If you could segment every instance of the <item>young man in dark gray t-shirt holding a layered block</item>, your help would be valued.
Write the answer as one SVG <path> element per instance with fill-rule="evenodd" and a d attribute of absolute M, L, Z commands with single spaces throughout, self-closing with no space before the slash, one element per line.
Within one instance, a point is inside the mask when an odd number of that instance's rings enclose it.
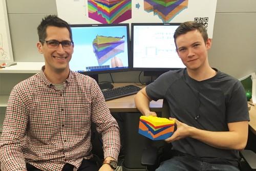
<path fill-rule="evenodd" d="M 241 82 L 211 68 L 211 39 L 200 23 L 182 23 L 174 34 L 185 69 L 169 71 L 135 97 L 143 115 L 156 115 L 149 102 L 166 99 L 177 130 L 165 141 L 173 155 L 162 170 L 239 170 L 239 151 L 247 142 L 248 107 Z M 170 119 L 172 119 L 170 118 Z"/>

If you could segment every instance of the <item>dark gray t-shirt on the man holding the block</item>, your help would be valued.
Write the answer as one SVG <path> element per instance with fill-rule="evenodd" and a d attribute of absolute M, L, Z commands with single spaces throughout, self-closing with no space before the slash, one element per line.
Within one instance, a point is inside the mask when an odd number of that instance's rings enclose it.
<path fill-rule="evenodd" d="M 214 77 L 203 81 L 190 78 L 186 69 L 169 71 L 149 84 L 146 93 L 153 100 L 166 99 L 170 116 L 187 125 L 207 131 L 228 131 L 227 123 L 249 120 L 247 100 L 239 80 L 216 71 Z M 215 148 L 193 138 L 172 144 L 174 149 L 192 156 L 239 158 L 236 150 Z"/>

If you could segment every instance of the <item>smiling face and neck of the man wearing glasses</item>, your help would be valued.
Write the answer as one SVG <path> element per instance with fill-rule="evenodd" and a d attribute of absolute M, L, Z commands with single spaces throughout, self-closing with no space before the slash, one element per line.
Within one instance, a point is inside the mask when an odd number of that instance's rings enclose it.
<path fill-rule="evenodd" d="M 65 27 L 48 26 L 46 29 L 46 41 L 71 41 L 69 30 Z M 69 61 L 71 60 L 74 47 L 71 49 L 63 49 L 60 44 L 58 48 L 48 48 L 46 42 L 37 42 L 39 53 L 44 54 L 45 57 L 45 70 L 48 72 L 69 72 Z"/>

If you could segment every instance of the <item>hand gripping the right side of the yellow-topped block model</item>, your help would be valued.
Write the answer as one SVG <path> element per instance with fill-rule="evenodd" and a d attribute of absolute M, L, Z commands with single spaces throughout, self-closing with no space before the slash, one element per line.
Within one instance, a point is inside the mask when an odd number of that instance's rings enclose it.
<path fill-rule="evenodd" d="M 182 123 L 180 121 L 178 121 L 177 119 L 174 118 L 169 118 L 170 120 L 175 120 L 176 123 L 176 131 L 174 132 L 174 134 L 172 136 L 170 136 L 169 138 L 165 139 L 165 141 L 167 143 L 173 142 L 175 140 L 179 140 L 182 138 L 186 138 L 189 136 L 189 130 L 191 129 L 191 126 L 188 126 L 185 123 Z"/>

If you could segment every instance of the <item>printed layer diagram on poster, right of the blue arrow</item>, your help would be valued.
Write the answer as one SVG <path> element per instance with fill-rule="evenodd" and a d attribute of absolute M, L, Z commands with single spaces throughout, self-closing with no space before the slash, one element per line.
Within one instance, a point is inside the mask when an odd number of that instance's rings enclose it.
<path fill-rule="evenodd" d="M 182 10 L 186 9 L 188 0 L 144 0 L 144 10 L 154 12 L 162 19 L 163 23 L 168 23 Z"/>

